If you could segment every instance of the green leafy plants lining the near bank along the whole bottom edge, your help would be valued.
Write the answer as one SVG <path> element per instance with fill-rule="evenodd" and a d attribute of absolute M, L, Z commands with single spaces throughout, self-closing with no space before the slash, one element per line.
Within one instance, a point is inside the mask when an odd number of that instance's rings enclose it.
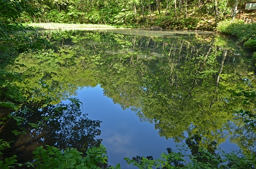
<path fill-rule="evenodd" d="M 76 149 L 67 149 L 61 151 L 58 148 L 40 146 L 33 151 L 33 163 L 27 162 L 21 165 L 33 167 L 35 169 L 100 169 L 102 164 L 107 164 L 108 156 L 106 148 L 103 145 L 100 147 L 92 147 L 88 149 L 87 156 L 83 157 L 82 153 Z M 168 150 L 168 149 L 167 149 Z M 182 151 L 185 150 L 182 148 Z M 180 150 L 181 151 L 181 150 Z M 137 156 L 132 160 L 124 158 L 128 164 L 132 164 L 139 169 L 254 169 L 256 167 L 256 158 L 242 156 L 241 151 L 225 153 L 220 151 L 220 156 L 213 155 L 209 150 L 199 148 L 197 154 L 188 155 L 186 152 L 173 152 L 168 150 L 168 153 L 162 153 L 161 158 L 153 159 L 152 156 L 140 157 Z M 2 169 L 9 169 L 10 165 L 15 164 L 16 156 L 0 161 Z M 184 159 L 187 158 L 187 161 Z M 200 160 L 206 159 L 206 160 Z M 120 169 L 120 164 L 109 166 L 109 169 Z"/>

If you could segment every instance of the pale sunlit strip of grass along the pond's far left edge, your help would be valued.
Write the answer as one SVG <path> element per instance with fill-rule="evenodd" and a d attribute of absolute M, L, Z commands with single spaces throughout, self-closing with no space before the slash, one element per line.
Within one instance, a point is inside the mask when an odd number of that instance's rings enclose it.
<path fill-rule="evenodd" d="M 63 23 L 26 23 L 36 30 L 62 30 L 62 29 L 114 29 L 115 26 L 100 24 L 63 24 Z"/>

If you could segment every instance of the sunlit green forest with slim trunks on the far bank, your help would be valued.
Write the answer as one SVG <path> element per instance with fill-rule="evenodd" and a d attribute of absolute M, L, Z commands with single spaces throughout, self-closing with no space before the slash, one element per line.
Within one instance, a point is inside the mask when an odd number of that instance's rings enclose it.
<path fill-rule="evenodd" d="M 189 29 L 201 26 L 203 29 L 203 24 L 216 25 L 216 21 L 233 14 L 236 7 L 241 7 L 241 10 L 246 1 L 248 0 L 29 0 L 28 3 L 41 13 L 32 16 L 23 13 L 20 21 L 157 25 L 162 28 L 183 26 Z M 215 20 L 210 20 L 214 18 Z"/>

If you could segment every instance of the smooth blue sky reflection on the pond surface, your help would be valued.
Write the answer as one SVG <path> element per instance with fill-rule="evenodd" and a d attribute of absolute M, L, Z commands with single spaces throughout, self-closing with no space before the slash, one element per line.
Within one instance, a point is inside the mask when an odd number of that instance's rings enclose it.
<path fill-rule="evenodd" d="M 83 103 L 83 112 L 88 113 L 89 119 L 102 121 L 99 138 L 103 139 L 101 143 L 107 148 L 109 165 L 121 163 L 121 168 L 131 168 L 123 160 L 124 157 L 153 156 L 156 159 L 162 152 L 167 152 L 167 147 L 175 150 L 175 145 L 178 145 L 172 139 L 160 137 L 154 124 L 141 122 L 134 111 L 123 110 L 121 105 L 103 96 L 100 85 L 83 88 L 75 97 Z M 228 140 L 219 147 L 226 152 L 238 149 Z"/>

